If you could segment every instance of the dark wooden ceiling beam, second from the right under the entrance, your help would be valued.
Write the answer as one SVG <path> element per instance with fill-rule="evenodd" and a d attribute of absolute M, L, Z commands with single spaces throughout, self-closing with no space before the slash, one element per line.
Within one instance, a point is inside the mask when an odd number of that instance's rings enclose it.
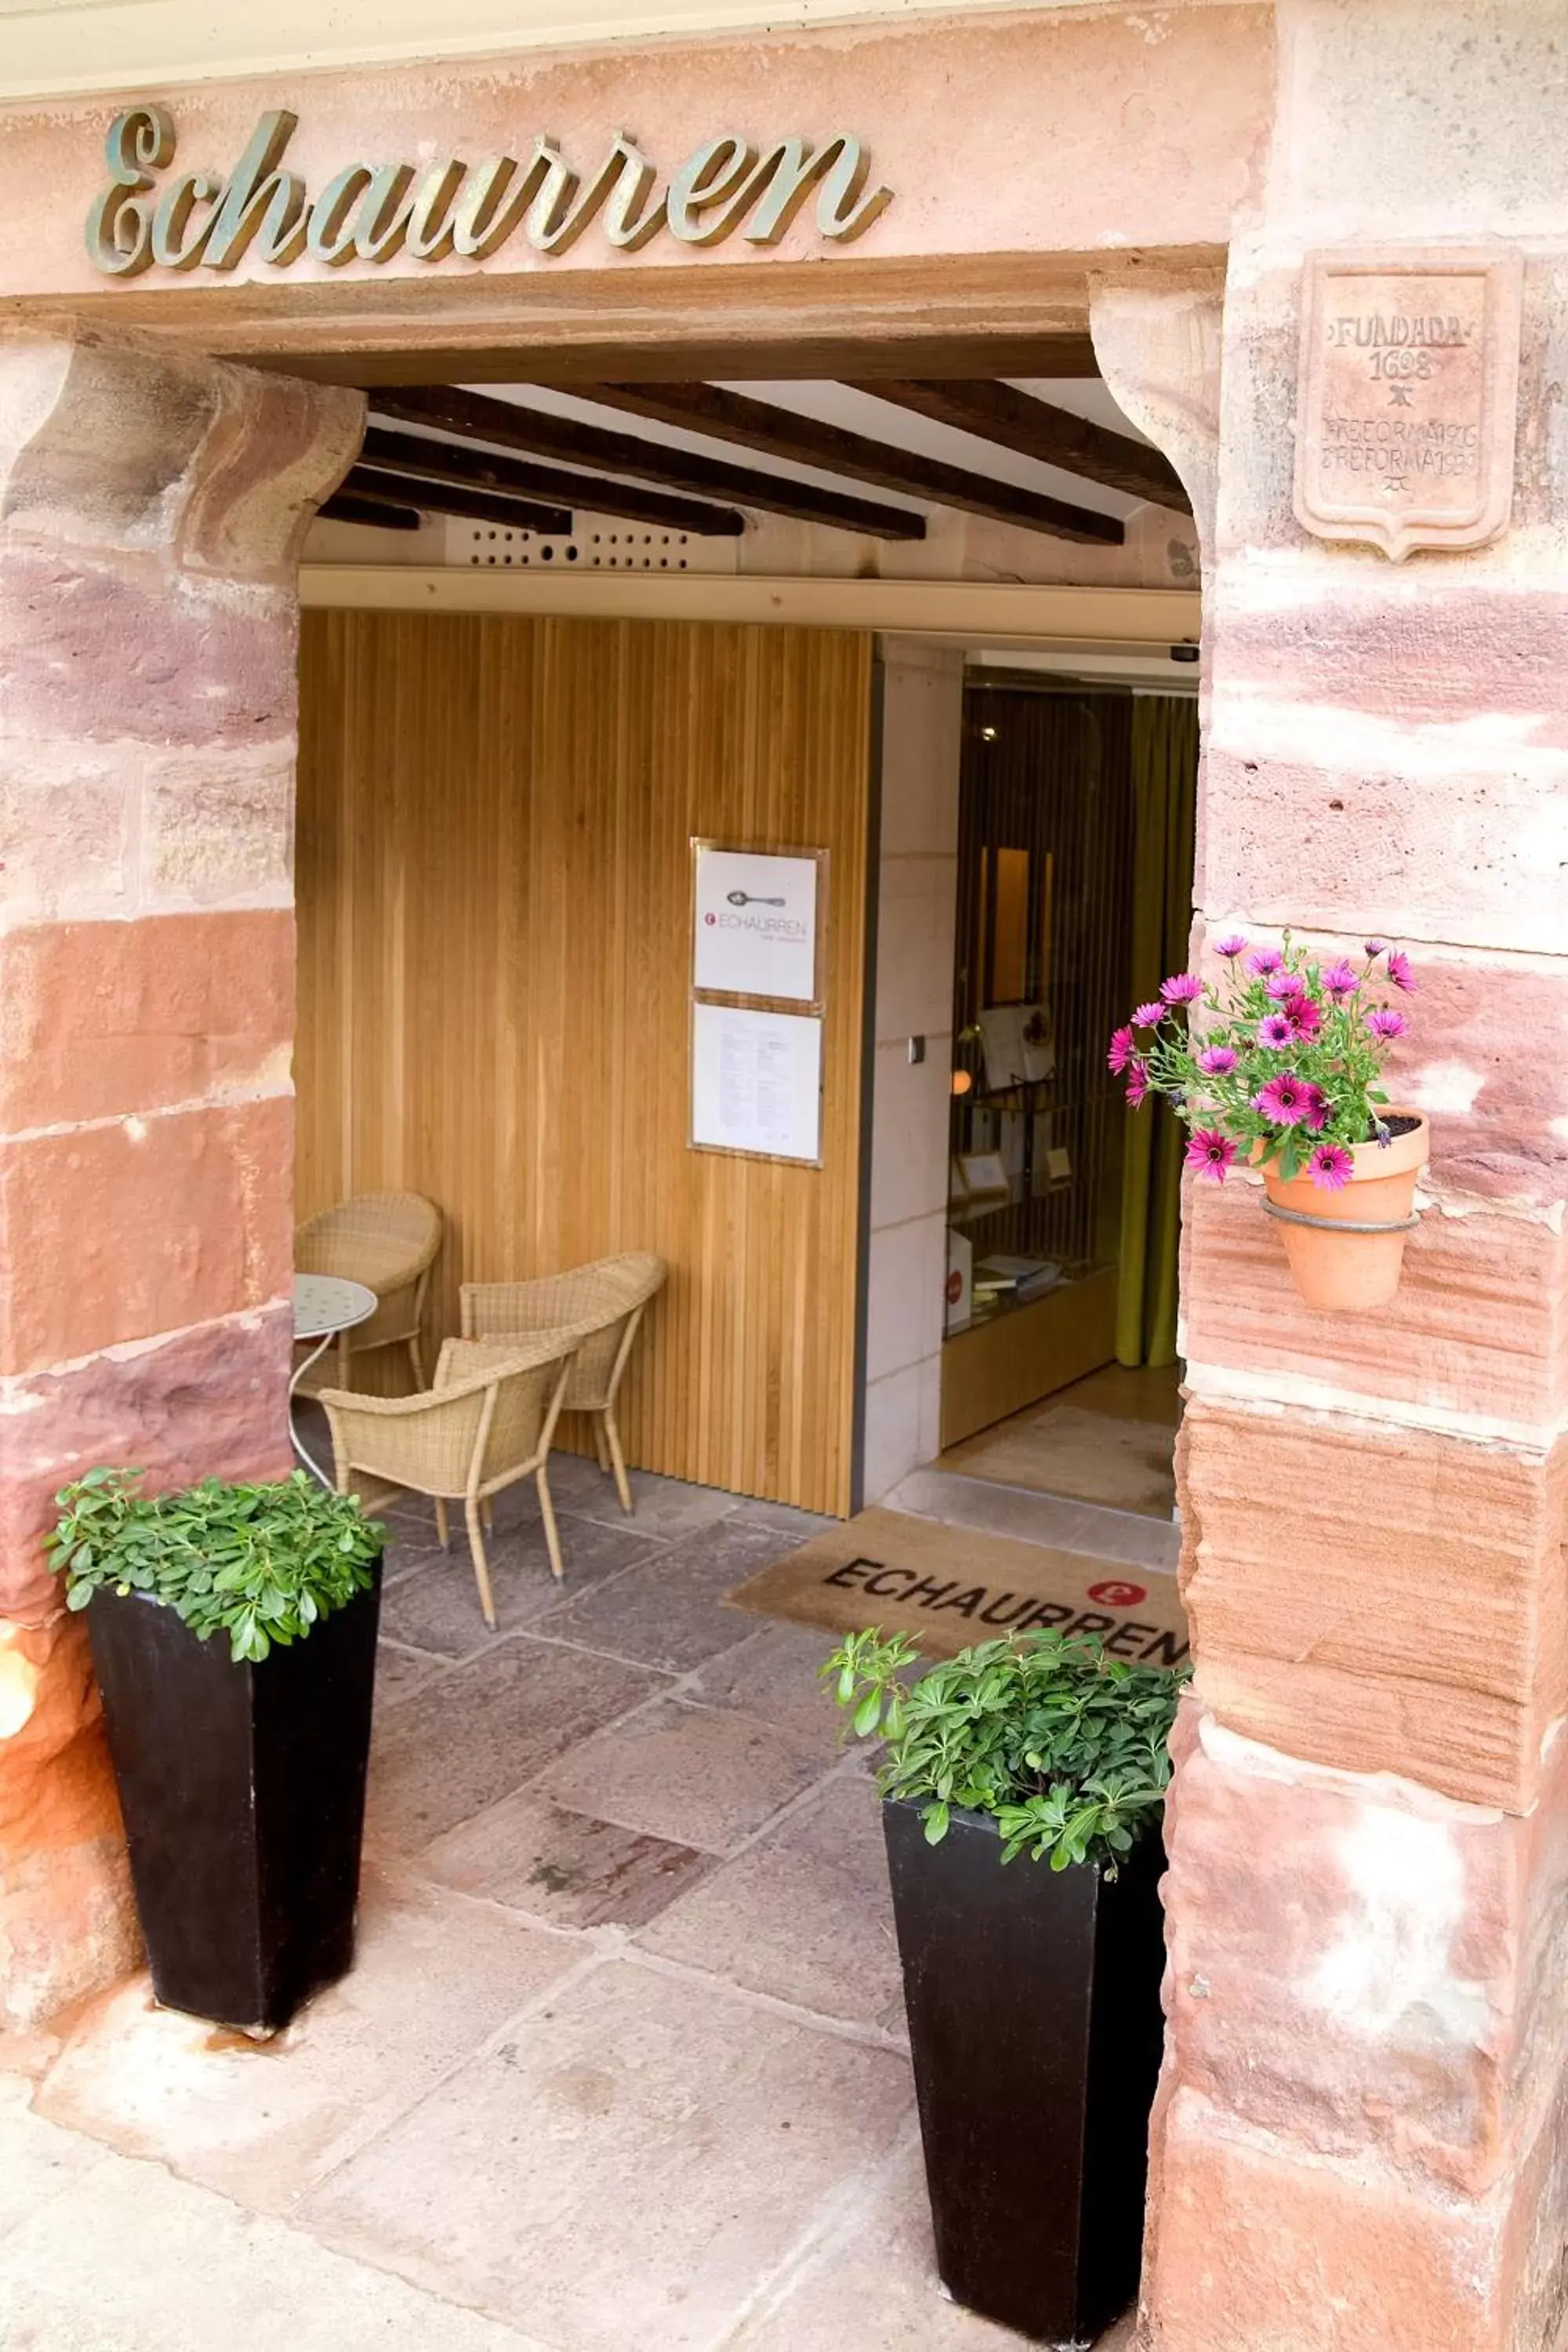
<path fill-rule="evenodd" d="M 987 482 L 985 475 L 964 473 L 961 466 L 914 456 L 912 449 L 867 440 L 865 433 L 846 433 L 844 426 L 818 423 L 816 416 L 797 416 L 795 409 L 778 409 L 769 400 L 726 393 L 717 383 L 585 383 L 583 400 L 602 400 L 611 409 L 625 409 L 630 416 L 646 416 L 661 426 L 715 433 L 719 440 L 757 452 L 757 456 L 823 466 L 827 473 L 846 473 L 877 489 L 900 489 L 936 506 L 957 506 L 966 515 L 1016 522 L 1025 532 L 1048 532 L 1051 539 L 1077 539 L 1107 548 L 1119 548 L 1126 539 L 1114 515 L 1095 515 L 1088 506 L 1046 499 L 1037 489 L 1013 489 L 1011 482 Z"/>

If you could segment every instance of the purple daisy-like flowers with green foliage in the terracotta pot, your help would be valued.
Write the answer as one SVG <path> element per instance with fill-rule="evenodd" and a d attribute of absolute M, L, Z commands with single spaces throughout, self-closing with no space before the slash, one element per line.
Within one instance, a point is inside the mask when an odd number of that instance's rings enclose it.
<path fill-rule="evenodd" d="M 1173 974 L 1114 1033 L 1110 1068 L 1126 1077 L 1133 1110 L 1166 1096 L 1192 1129 L 1187 1167 L 1208 1183 L 1225 1183 L 1237 1157 L 1276 1160 L 1286 1183 L 1305 1171 L 1316 1190 L 1340 1192 L 1356 1143 L 1394 1141 L 1378 1082 L 1408 1028 L 1389 990 L 1415 993 L 1410 957 L 1368 938 L 1361 967 L 1321 962 L 1288 931 L 1284 946 L 1251 953 L 1232 931 L 1215 950 L 1222 983 Z"/>

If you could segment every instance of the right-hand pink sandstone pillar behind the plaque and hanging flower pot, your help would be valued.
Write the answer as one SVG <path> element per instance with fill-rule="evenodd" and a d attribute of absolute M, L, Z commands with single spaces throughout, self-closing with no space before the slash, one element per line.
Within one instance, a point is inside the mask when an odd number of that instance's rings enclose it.
<path fill-rule="evenodd" d="M 1182 1581 L 1150 2352 L 1568 2343 L 1568 9 L 1281 0 L 1222 327 L 1107 287 L 1208 506 L 1197 946 L 1396 938 L 1432 1115 L 1399 1298 L 1314 1315 L 1244 1185 L 1187 1202 Z M 1514 527 L 1293 520 L 1302 259 L 1526 242 Z M 1143 341 L 1138 318 L 1143 315 Z M 1218 343 L 1218 348 L 1215 348 Z M 1215 358 L 1220 381 L 1215 383 Z"/>

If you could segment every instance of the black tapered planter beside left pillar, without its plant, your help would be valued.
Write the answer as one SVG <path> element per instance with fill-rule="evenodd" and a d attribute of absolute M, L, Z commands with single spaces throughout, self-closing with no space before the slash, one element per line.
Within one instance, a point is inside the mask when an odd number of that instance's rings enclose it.
<path fill-rule="evenodd" d="M 374 1578 L 259 1665 L 158 1602 L 92 1597 L 136 1912 L 167 2009 L 277 2030 L 353 1964 L 381 1562 Z"/>

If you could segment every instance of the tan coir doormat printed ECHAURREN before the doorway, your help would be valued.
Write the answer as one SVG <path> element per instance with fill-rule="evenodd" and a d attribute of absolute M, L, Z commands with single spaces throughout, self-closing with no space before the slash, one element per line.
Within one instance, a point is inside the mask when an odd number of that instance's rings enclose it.
<path fill-rule="evenodd" d="M 1124 1569 L 903 1510 L 863 1510 L 726 1599 L 823 1632 L 907 1632 L 929 1658 L 1037 1625 L 1095 1632 L 1112 1658 L 1145 1665 L 1187 1656 L 1187 1613 L 1161 1569 Z"/>

